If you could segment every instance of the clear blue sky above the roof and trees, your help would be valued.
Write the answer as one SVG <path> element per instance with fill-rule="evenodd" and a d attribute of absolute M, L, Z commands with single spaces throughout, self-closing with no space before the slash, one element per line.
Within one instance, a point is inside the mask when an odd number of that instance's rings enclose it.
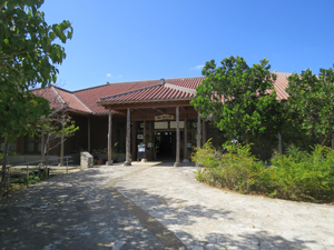
<path fill-rule="evenodd" d="M 202 76 L 229 56 L 278 72 L 334 62 L 333 0 L 46 0 L 41 10 L 75 29 L 58 76 L 68 90 Z"/>

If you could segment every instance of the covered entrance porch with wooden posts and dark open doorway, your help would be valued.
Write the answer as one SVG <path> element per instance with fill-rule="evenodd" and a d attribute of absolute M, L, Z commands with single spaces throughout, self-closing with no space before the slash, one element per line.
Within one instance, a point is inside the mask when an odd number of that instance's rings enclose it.
<path fill-rule="evenodd" d="M 111 164 L 112 119 L 126 117 L 126 161 L 189 162 L 194 147 L 207 140 L 207 124 L 189 103 L 190 100 L 100 102 L 108 113 L 108 163 Z M 115 133 L 114 133 L 115 134 Z M 199 136 L 198 136 L 199 134 Z M 138 146 L 145 154 L 138 153 Z"/>

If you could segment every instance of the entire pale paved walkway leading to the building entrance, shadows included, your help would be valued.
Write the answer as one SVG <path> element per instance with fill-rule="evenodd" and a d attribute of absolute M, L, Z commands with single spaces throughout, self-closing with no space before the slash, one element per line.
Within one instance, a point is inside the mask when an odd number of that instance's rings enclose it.
<path fill-rule="evenodd" d="M 0 201 L 0 249 L 334 249 L 333 206 L 222 191 L 194 171 L 134 164 L 52 178 Z"/>

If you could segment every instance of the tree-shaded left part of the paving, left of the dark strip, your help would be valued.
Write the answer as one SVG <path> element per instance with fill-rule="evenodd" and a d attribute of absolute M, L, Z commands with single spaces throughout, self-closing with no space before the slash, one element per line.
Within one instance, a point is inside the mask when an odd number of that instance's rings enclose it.
<path fill-rule="evenodd" d="M 0 201 L 2 249 L 164 249 L 106 189 L 99 169 L 56 177 Z"/>

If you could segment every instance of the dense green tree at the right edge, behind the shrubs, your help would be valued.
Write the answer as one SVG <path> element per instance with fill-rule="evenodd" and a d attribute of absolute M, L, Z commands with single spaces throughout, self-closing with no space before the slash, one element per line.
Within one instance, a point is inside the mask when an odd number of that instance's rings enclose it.
<path fill-rule="evenodd" d="M 334 131 L 333 68 L 321 69 L 318 76 L 311 69 L 293 73 L 286 92 L 295 128 L 311 138 L 311 143 L 327 143 Z"/>

